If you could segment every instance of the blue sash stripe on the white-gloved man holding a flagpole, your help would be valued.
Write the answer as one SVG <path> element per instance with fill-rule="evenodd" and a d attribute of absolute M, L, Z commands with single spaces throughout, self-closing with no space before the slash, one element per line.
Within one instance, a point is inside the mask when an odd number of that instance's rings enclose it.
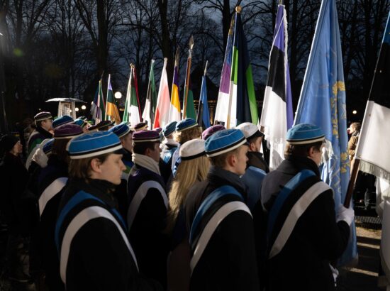
<path fill-rule="evenodd" d="M 277 216 L 279 215 L 280 209 L 284 202 L 286 201 L 289 194 L 298 187 L 301 182 L 306 180 L 308 177 L 315 176 L 316 174 L 311 170 L 301 170 L 298 174 L 296 174 L 289 182 L 284 185 L 283 189 L 277 195 L 277 199 L 272 206 L 269 216 L 268 216 L 268 225 L 267 225 L 267 236 L 271 237 L 272 230 L 274 229 L 275 221 L 277 220 Z"/>

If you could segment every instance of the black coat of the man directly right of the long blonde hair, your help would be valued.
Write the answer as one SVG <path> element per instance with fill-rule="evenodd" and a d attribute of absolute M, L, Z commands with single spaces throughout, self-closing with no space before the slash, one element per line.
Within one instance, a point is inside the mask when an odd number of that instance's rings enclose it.
<path fill-rule="evenodd" d="M 213 190 L 224 185 L 233 186 L 245 199 L 245 190 L 238 175 L 211 168 L 207 180 L 191 187 L 187 194 L 185 211 L 188 233 L 201 202 Z M 243 211 L 229 214 L 208 241 L 191 275 L 190 290 L 260 290 L 255 253 L 252 217 Z"/>

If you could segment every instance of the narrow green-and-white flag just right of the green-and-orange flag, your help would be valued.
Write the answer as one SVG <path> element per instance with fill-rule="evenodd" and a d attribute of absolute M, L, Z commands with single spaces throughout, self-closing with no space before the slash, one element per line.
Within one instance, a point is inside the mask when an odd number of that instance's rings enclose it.
<path fill-rule="evenodd" d="M 128 78 L 128 90 L 126 93 L 125 111 L 123 121 L 130 122 L 130 126 L 140 123 L 140 111 L 138 105 L 138 92 L 136 90 L 135 67 L 130 65 L 130 77 Z"/>

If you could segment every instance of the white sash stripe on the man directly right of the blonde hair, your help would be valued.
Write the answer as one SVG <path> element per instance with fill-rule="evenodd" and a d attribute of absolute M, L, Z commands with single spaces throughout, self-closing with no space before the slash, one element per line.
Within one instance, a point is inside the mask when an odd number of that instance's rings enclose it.
<path fill-rule="evenodd" d="M 204 252 L 208 241 L 210 241 L 211 236 L 213 236 L 214 231 L 216 231 L 217 227 L 223 219 L 225 219 L 226 216 L 228 216 L 232 212 L 236 212 L 238 210 L 242 210 L 244 212 L 247 212 L 250 216 L 250 210 L 247 208 L 245 203 L 240 202 L 240 201 L 233 201 L 233 202 L 228 202 L 223 207 L 218 209 L 218 211 L 211 217 L 211 219 L 208 221 L 206 224 L 206 227 L 204 228 L 204 231 L 202 231 L 202 234 L 199 238 L 198 243 L 196 243 L 195 251 L 194 251 L 194 256 L 191 258 L 191 262 L 189 263 L 190 268 L 191 268 L 191 275 L 192 272 L 194 271 L 194 268 L 196 267 L 196 264 L 198 263 L 199 259 L 202 256 L 202 253 Z"/>

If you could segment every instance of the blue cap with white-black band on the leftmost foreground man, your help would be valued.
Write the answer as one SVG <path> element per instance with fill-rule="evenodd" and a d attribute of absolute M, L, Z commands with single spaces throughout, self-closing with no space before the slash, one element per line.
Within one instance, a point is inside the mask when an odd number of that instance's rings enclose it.
<path fill-rule="evenodd" d="M 91 158 L 104 153 L 123 153 L 121 141 L 109 131 L 93 131 L 72 138 L 67 144 L 71 159 Z"/>

